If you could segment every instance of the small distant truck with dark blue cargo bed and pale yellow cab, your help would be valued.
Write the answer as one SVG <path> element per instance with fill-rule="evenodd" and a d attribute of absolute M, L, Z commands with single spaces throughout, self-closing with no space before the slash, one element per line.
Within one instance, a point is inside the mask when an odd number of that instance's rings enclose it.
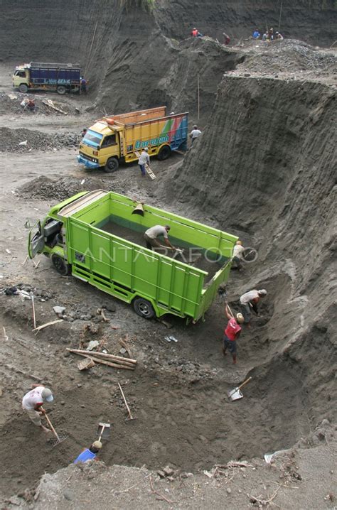
<path fill-rule="evenodd" d="M 58 94 L 81 90 L 80 65 L 31 62 L 18 65 L 12 76 L 13 87 L 25 94 L 28 89 L 43 89 Z"/>

